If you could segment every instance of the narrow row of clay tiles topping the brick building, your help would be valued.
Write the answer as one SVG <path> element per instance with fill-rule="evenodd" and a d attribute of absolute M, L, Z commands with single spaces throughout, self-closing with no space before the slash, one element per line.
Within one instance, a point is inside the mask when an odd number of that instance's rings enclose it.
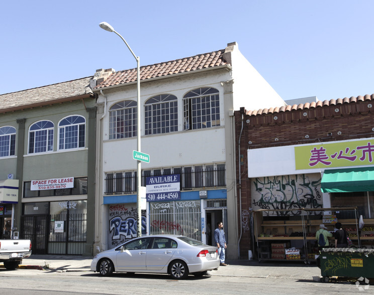
<path fill-rule="evenodd" d="M 307 103 L 301 103 L 301 104 L 294 104 L 294 105 L 287 105 L 282 107 L 271 107 L 269 109 L 258 109 L 258 110 L 250 110 L 246 112 L 246 115 L 249 116 L 258 116 L 258 115 L 266 115 L 266 114 L 274 114 L 274 113 L 284 113 L 289 111 L 296 111 L 296 110 L 308 110 L 308 109 L 315 109 L 320 108 L 323 106 L 333 106 L 333 105 L 343 105 L 348 103 L 354 103 L 354 102 L 364 102 L 364 101 L 370 101 L 374 100 L 374 94 L 366 94 L 364 96 L 351 96 L 351 97 L 344 97 L 344 98 L 338 98 L 338 99 L 330 99 L 330 100 L 324 100 L 324 101 L 313 101 L 313 102 L 307 102 Z"/>

